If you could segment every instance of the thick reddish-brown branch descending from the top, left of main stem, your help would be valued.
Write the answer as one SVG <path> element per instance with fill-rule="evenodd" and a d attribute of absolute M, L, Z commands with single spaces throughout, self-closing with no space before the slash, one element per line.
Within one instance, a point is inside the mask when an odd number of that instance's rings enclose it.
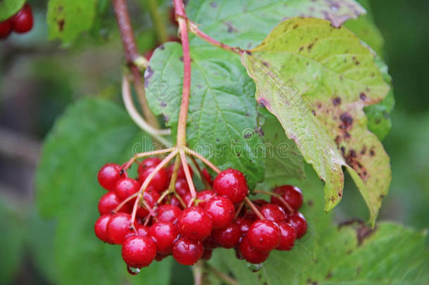
<path fill-rule="evenodd" d="M 144 91 L 143 78 L 141 77 L 139 66 L 136 65 L 136 62 L 141 62 L 141 56 L 137 50 L 136 40 L 134 39 L 131 20 L 129 20 L 127 3 L 125 0 L 113 0 L 113 8 L 115 10 L 117 25 L 121 34 L 122 45 L 124 46 L 125 58 L 127 59 L 127 64 L 129 65 L 134 77 L 134 88 L 139 96 L 143 116 L 152 127 L 158 128 L 158 120 L 151 112 L 151 109 L 149 109 Z"/>

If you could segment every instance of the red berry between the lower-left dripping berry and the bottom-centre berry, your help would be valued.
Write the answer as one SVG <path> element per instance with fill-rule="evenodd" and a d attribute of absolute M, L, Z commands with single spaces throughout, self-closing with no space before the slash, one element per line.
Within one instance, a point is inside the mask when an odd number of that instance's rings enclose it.
<path fill-rule="evenodd" d="M 149 229 L 149 236 L 155 241 L 157 252 L 167 254 L 172 253 L 179 231 L 172 222 L 156 222 Z"/>

